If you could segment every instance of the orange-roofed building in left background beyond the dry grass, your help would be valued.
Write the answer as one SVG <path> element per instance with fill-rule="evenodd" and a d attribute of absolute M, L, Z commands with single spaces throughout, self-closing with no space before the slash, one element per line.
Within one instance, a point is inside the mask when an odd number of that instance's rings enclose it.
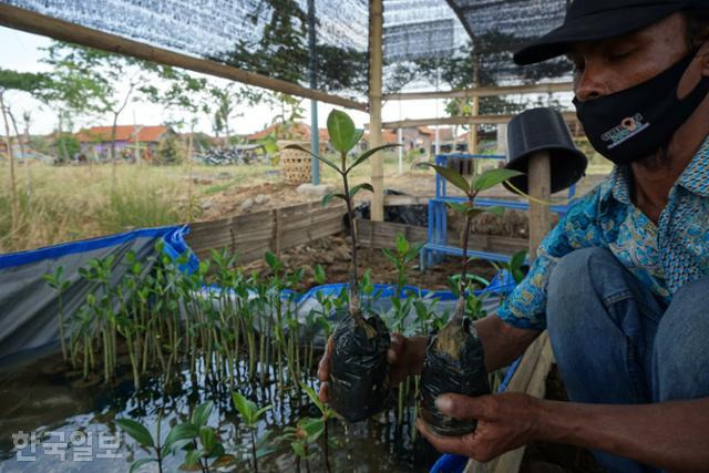
<path fill-rule="evenodd" d="M 106 158 L 111 154 L 111 126 L 92 126 L 75 134 L 81 145 L 81 154 L 90 158 Z M 116 156 L 134 157 L 135 147 L 140 150 L 142 160 L 151 160 L 160 141 L 174 134 L 164 125 L 119 125 L 115 130 Z"/>

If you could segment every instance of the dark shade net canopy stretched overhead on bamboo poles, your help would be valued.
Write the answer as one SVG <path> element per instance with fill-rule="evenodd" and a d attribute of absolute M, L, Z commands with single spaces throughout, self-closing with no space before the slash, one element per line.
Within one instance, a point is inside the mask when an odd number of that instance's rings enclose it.
<path fill-rule="evenodd" d="M 360 100 L 367 94 L 367 0 L 311 0 L 315 49 L 308 0 L 2 2 L 304 86 L 312 85 L 315 66 L 316 89 Z M 383 0 L 384 92 L 567 79 L 565 61 L 512 62 L 520 45 L 561 24 L 567 2 Z"/>

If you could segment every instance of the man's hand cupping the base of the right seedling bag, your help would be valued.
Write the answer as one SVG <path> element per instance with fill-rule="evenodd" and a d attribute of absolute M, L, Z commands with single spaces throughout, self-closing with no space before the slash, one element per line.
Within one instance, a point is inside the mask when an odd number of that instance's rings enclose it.
<path fill-rule="evenodd" d="M 436 408 L 455 419 L 477 419 L 475 431 L 463 436 L 436 435 L 425 428 L 421 419 L 417 420 L 417 428 L 440 452 L 489 462 L 535 440 L 540 403 L 536 398 L 514 392 L 479 398 L 442 394 L 435 400 Z"/>

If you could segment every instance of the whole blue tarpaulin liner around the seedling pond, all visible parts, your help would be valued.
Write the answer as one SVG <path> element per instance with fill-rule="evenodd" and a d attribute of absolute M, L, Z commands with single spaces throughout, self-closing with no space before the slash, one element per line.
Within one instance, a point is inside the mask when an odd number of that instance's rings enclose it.
<path fill-rule="evenodd" d="M 16 363 L 28 353 L 37 353 L 42 349 L 55 349 L 59 341 L 56 323 L 58 295 L 47 284 L 43 276 L 53 274 L 62 266 L 70 286 L 62 296 L 64 313 L 75 311 L 84 304 L 86 295 L 100 291 L 95 282 L 85 280 L 79 275 L 79 268 L 86 266 L 89 260 L 114 257 L 111 271 L 112 284 L 121 280 L 127 265 L 124 257 L 129 251 L 135 254 L 135 259 L 145 265 L 155 255 L 156 244 L 162 241 L 162 251 L 173 259 L 187 253 L 189 258 L 182 270 L 191 273 L 197 268 L 198 260 L 189 250 L 184 236 L 189 232 L 188 226 L 172 226 L 148 228 L 93 238 L 82 241 L 55 245 L 29 251 L 0 255 L 0 366 Z M 298 294 L 289 290 L 281 292 L 281 298 L 297 305 L 299 316 L 306 317 L 312 310 L 322 309 L 323 298 L 335 298 L 347 290 L 347 284 L 329 284 L 314 287 L 307 292 Z M 499 273 L 491 284 L 483 290 L 475 291 L 477 296 L 504 296 L 514 288 L 514 280 L 506 271 Z M 204 291 L 222 291 L 218 286 L 206 286 Z M 435 304 L 436 310 L 452 311 L 456 297 L 450 291 L 429 291 L 413 286 L 404 286 L 399 298 L 417 296 Z M 393 285 L 373 285 L 371 295 L 364 298 L 372 310 L 386 311 L 391 309 L 391 298 L 397 297 Z M 491 312 L 500 304 L 499 297 L 483 298 L 484 308 Z M 322 338 L 321 333 L 308 333 L 307 337 Z M 322 343 L 325 340 L 320 340 Z M 28 357 L 29 358 L 29 357 Z M 32 357 L 33 358 L 33 357 Z M 500 387 L 504 391 L 513 367 Z M 460 455 L 442 455 L 432 472 L 462 472 L 467 459 Z"/>

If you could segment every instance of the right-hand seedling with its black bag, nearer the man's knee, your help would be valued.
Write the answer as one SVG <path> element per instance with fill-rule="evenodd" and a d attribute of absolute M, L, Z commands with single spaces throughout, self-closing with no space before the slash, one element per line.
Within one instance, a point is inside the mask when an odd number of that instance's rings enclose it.
<path fill-rule="evenodd" d="M 485 212 L 502 215 L 504 208 L 477 208 L 474 206 L 475 197 L 481 191 L 494 187 L 521 173 L 512 169 L 492 169 L 473 176 L 469 183 L 453 169 L 430 163 L 422 163 L 422 165 L 433 167 L 445 181 L 463 191 L 467 202 L 448 203 L 454 212 L 465 216 L 463 263 L 461 276 L 458 279 L 459 299 L 451 320 L 438 333 L 431 335 L 427 343 L 421 373 L 421 418 L 438 434 L 464 435 L 473 432 L 477 422 L 449 418 L 435 408 L 434 401 L 439 394 L 445 392 L 471 397 L 490 393 L 483 346 L 477 338 L 471 315 L 465 313 L 466 290 L 470 290 L 469 298 L 474 297 L 467 278 L 467 240 L 475 216 Z"/>

